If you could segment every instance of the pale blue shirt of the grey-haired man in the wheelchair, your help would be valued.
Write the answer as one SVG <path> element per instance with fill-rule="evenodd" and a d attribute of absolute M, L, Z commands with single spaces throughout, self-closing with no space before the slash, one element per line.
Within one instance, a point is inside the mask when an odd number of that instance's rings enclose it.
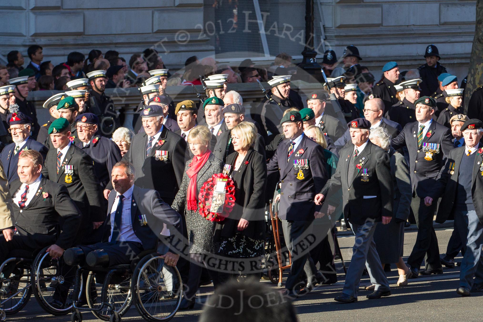
<path fill-rule="evenodd" d="M 122 220 L 121 220 L 121 227 L 119 228 L 119 241 L 136 241 L 141 243 L 141 240 L 137 238 L 134 230 L 132 229 L 132 221 L 131 221 L 131 198 L 132 198 L 132 191 L 134 190 L 134 185 L 132 185 L 124 194 L 124 200 L 122 202 Z M 121 194 L 116 192 L 116 197 L 114 199 L 113 207 L 111 208 L 111 236 L 109 237 L 109 241 L 111 241 L 111 237 L 113 236 L 114 231 L 114 219 L 117 210 L 117 204 L 119 203 L 119 196 Z M 135 220 L 138 220 L 135 218 Z"/>

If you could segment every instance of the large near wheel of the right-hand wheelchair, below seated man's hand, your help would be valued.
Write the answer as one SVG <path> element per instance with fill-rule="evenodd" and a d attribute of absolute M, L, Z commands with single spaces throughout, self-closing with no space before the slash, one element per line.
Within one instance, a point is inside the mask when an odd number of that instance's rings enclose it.
<path fill-rule="evenodd" d="M 176 267 L 164 265 L 160 254 L 147 255 L 134 270 L 132 293 L 134 305 L 144 320 L 169 321 L 183 297 L 181 275 Z"/>

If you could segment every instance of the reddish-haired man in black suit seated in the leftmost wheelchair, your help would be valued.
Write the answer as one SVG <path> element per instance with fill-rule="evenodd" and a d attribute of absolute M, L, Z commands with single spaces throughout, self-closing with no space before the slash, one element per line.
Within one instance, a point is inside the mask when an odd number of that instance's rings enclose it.
<path fill-rule="evenodd" d="M 15 251 L 31 251 L 46 246 L 56 259 L 71 247 L 81 223 L 80 211 L 67 188 L 43 178 L 42 155 L 35 150 L 21 151 L 18 157 L 19 179 L 11 183 L 16 233 L 11 240 L 0 238 L 0 264 Z M 61 226 L 62 232 L 59 227 Z M 5 273 L 2 272 L 4 277 Z M 10 284 L 0 289 L 2 296 L 15 292 Z"/>

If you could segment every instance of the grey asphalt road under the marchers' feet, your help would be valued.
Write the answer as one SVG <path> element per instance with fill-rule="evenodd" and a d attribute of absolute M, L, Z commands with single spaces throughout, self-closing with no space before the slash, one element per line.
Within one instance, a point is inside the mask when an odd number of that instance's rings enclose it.
<path fill-rule="evenodd" d="M 437 236 L 440 252 L 445 252 L 451 230 L 438 230 Z M 416 232 L 406 232 L 404 254 L 409 255 L 414 244 Z M 339 238 L 344 260 L 350 262 L 352 255 L 353 237 Z M 461 258 L 457 258 L 457 261 Z M 483 320 L 483 293 L 472 294 L 462 298 L 455 293 L 459 285 L 459 267 L 444 268 L 444 274 L 432 275 L 428 278 L 410 280 L 406 287 L 397 287 L 398 273 L 393 270 L 388 273 L 392 287 L 392 295 L 378 300 L 368 300 L 366 295 L 370 291 L 359 292 L 358 302 L 341 304 L 334 302 L 334 297 L 341 293 L 343 285 L 343 271 L 338 263 L 340 282 L 332 285 L 318 287 L 304 297 L 297 299 L 294 305 L 298 312 L 300 322 L 312 321 L 482 321 Z M 368 283 L 368 276 L 363 276 L 362 283 Z M 272 287 L 270 281 L 262 281 Z M 212 292 L 212 287 L 201 288 L 201 301 Z M 179 311 L 172 322 L 198 321 L 202 305 L 198 303 L 194 310 Z M 98 321 L 89 313 L 84 313 L 84 321 Z M 30 300 L 26 308 L 17 315 L 8 316 L 6 321 L 71 321 L 70 315 L 52 317 L 46 315 L 38 306 L 35 299 Z M 122 321 L 142 321 L 135 308 L 130 308 Z"/>

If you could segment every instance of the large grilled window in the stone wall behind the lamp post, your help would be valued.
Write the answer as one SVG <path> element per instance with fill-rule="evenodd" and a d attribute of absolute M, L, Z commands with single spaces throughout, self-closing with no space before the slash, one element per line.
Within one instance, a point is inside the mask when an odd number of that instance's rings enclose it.
<path fill-rule="evenodd" d="M 214 20 L 217 59 L 272 59 L 281 52 L 300 56 L 304 49 L 305 0 L 218 0 Z M 320 3 L 315 0 L 313 37 L 319 54 L 324 52 L 323 24 Z"/>

